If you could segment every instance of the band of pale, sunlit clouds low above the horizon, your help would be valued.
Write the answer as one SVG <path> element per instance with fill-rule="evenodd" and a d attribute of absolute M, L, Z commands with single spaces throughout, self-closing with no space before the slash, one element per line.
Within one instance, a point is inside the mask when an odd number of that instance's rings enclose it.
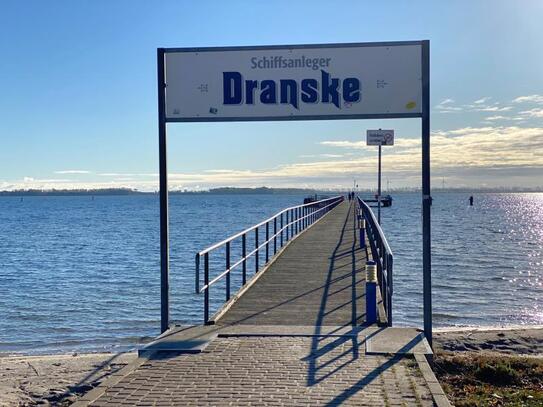
<path fill-rule="evenodd" d="M 394 147 L 383 151 L 383 165 L 387 176 L 401 182 L 415 181 L 420 176 L 420 137 L 398 137 Z M 322 141 L 321 146 L 340 148 L 346 151 L 342 157 L 326 157 L 311 162 L 296 162 L 263 170 L 219 168 L 199 173 L 169 174 L 169 184 L 173 189 L 208 188 L 213 186 L 330 186 L 367 180 L 368 185 L 376 169 L 375 149 L 369 149 L 365 140 Z M 434 131 L 431 136 L 433 170 L 443 171 L 448 177 L 463 179 L 476 176 L 483 171 L 543 171 L 543 128 L 517 126 L 464 127 L 448 131 Z M 364 150 L 368 154 L 362 154 Z M 356 151 L 356 155 L 348 156 Z M 328 154 L 328 153 L 326 153 Z M 18 188 L 137 188 L 157 190 L 157 174 L 116 174 L 111 179 L 97 177 L 98 181 L 80 182 L 69 179 L 36 179 L 25 177 L 22 180 L 0 180 L 4 189 Z M 394 178 L 395 177 L 395 178 Z M 100 180 L 102 179 L 102 180 Z M 489 179 L 500 180 L 495 175 Z M 535 178 L 534 178 L 535 179 Z M 538 178 L 539 179 L 539 178 Z M 347 181 L 349 180 L 349 181 Z M 534 181 L 535 182 L 535 181 Z M 538 181 L 540 182 L 540 181 Z"/>

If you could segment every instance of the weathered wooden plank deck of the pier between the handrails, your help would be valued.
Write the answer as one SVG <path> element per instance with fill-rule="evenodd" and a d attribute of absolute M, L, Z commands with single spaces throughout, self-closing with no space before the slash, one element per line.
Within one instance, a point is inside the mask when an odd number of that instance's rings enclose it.
<path fill-rule="evenodd" d="M 343 202 L 296 240 L 217 321 L 220 325 L 360 325 L 366 250 L 354 202 Z"/>

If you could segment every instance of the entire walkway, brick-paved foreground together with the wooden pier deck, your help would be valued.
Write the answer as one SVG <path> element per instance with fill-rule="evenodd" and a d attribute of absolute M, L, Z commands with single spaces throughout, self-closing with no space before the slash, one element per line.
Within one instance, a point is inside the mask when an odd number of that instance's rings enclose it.
<path fill-rule="evenodd" d="M 336 206 L 210 324 L 172 327 L 75 405 L 448 406 L 421 332 L 386 326 L 382 310 L 365 323 L 372 251 L 357 210 Z"/>

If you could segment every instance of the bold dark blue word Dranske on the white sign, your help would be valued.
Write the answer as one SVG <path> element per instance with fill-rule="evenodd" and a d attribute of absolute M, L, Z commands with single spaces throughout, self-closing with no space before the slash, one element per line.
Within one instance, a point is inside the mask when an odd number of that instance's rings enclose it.
<path fill-rule="evenodd" d="M 300 83 L 294 79 L 277 81 L 245 80 L 239 72 L 223 72 L 223 104 L 254 105 L 260 100 L 262 104 L 288 104 L 298 109 L 302 103 L 331 103 L 341 109 L 341 101 L 356 103 L 360 101 L 361 86 L 358 78 L 334 78 L 321 70 L 321 80 L 302 79 Z M 319 92 L 320 89 L 320 92 Z"/>

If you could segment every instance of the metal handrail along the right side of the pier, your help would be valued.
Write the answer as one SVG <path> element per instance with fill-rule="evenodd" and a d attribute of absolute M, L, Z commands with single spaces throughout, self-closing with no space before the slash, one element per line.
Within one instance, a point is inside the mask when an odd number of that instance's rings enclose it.
<path fill-rule="evenodd" d="M 373 211 L 362 199 L 357 198 L 357 201 L 358 208 L 362 212 L 361 215 L 366 221 L 366 234 L 370 242 L 371 254 L 373 260 L 377 263 L 377 281 L 387 315 L 387 324 L 392 325 L 392 269 L 394 256 Z"/>

